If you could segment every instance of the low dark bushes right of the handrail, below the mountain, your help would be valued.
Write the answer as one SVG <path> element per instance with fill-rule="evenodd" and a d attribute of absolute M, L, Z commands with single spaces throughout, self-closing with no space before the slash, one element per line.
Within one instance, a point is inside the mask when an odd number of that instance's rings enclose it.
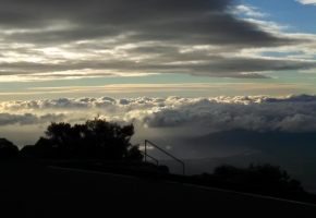
<path fill-rule="evenodd" d="M 212 174 L 203 173 L 202 177 L 267 187 L 304 191 L 300 181 L 290 180 L 285 170 L 270 164 L 250 164 L 245 169 L 222 165 L 216 167 Z"/>

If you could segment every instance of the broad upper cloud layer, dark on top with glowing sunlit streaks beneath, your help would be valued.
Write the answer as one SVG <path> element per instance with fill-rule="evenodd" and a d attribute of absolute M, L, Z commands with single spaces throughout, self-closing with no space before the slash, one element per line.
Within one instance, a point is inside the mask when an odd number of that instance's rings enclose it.
<path fill-rule="evenodd" d="M 295 37 L 280 33 L 278 24 L 240 19 L 236 9 L 264 14 L 232 0 L 2 2 L 1 82 L 151 73 L 266 78 L 260 72 L 316 64 L 306 57 L 239 56 L 245 49 L 311 51 L 315 36 Z"/>

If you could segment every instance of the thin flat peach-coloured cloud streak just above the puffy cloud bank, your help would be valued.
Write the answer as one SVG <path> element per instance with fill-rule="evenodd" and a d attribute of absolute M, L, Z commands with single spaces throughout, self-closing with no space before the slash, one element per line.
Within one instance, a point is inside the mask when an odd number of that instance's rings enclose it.
<path fill-rule="evenodd" d="M 250 76 L 245 74 L 245 76 Z M 124 94 L 124 93 L 166 93 L 166 92 L 211 92 L 216 90 L 293 90 L 308 87 L 303 83 L 177 83 L 177 84 L 116 84 L 105 86 L 58 86 L 29 87 L 21 92 L 2 92 L 0 96 L 32 96 L 45 94 Z M 309 87 L 313 88 L 313 87 Z"/>

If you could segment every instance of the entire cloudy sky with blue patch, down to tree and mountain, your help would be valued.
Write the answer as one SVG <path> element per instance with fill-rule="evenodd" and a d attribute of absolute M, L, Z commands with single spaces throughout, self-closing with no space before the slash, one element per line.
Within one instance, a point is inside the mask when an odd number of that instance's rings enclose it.
<path fill-rule="evenodd" d="M 135 144 L 316 131 L 316 0 L 0 3 L 0 137 L 20 147 L 97 114 Z"/>

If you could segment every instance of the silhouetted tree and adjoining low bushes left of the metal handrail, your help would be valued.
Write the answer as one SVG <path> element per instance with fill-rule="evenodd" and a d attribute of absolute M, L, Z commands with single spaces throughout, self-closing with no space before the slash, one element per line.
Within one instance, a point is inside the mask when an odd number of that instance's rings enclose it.
<path fill-rule="evenodd" d="M 143 162 L 139 145 L 132 145 L 133 124 L 119 125 L 98 117 L 83 124 L 51 122 L 35 145 L 17 146 L 0 138 L 0 158 L 60 159 L 59 165 L 90 170 L 124 169 L 169 173 L 167 166 Z"/>

